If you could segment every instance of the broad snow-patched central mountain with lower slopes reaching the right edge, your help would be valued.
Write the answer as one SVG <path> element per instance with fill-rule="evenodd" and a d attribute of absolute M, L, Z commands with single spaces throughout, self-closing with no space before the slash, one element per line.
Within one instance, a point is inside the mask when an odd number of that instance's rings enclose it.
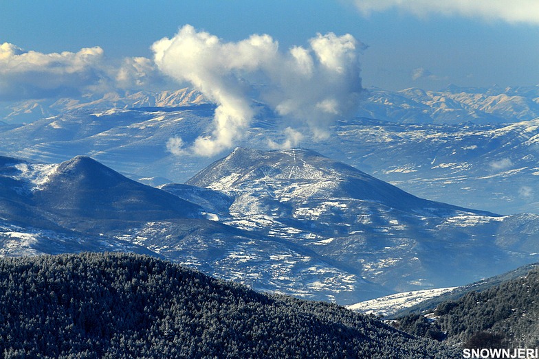
<path fill-rule="evenodd" d="M 234 197 L 226 224 L 307 247 L 394 290 L 454 286 L 539 252 L 536 216 L 423 200 L 309 150 L 236 148 L 188 184 Z M 520 246 L 509 238 L 525 223 Z"/>

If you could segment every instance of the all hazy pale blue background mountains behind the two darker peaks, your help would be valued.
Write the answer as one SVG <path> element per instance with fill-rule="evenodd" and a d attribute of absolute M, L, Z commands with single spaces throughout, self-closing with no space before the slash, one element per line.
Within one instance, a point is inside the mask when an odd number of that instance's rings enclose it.
<path fill-rule="evenodd" d="M 336 122 L 327 139 L 308 147 L 419 197 L 494 213 L 538 213 L 538 98 L 536 87 L 369 89 L 356 117 Z M 196 91 L 42 102 L 45 109 L 25 124 L 16 118 L 29 104 L 12 104 L 12 115 L 4 115 L 5 156 L 59 163 L 84 154 L 151 185 L 184 183 L 222 156 L 177 156 L 170 147 L 171 139 L 189 146 L 210 135 L 215 106 Z M 467 115 L 457 117 L 457 110 Z M 269 139 L 285 141 L 282 127 L 261 111 L 238 146 L 270 149 Z"/>

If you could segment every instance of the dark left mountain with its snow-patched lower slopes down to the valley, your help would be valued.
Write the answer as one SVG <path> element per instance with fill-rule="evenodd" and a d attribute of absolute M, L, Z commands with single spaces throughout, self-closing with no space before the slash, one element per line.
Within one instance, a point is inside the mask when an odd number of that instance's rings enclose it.
<path fill-rule="evenodd" d="M 59 165 L 0 157 L 0 183 L 0 255 L 134 251 L 309 299 L 391 292 L 309 248 L 219 223 L 232 200 L 209 189 L 149 187 L 89 157 Z"/>

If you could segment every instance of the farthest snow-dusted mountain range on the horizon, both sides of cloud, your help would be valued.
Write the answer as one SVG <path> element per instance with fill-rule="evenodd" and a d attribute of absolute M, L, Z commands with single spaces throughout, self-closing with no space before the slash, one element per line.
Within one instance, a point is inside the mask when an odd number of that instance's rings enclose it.
<path fill-rule="evenodd" d="M 392 122 L 461 124 L 511 123 L 539 117 L 539 86 L 490 88 L 450 85 L 440 91 L 410 88 L 388 91 L 376 87 L 365 89 L 358 117 Z M 8 124 L 30 123 L 43 117 L 91 109 L 174 108 L 210 101 L 199 91 L 117 91 L 85 94 L 79 98 L 24 100 L 7 102 L 0 116 Z"/>

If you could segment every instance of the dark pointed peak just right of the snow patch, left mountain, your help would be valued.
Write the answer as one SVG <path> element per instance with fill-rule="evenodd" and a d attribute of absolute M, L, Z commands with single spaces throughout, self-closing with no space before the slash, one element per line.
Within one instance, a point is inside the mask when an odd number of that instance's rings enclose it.
<path fill-rule="evenodd" d="M 92 220 L 202 218 L 198 205 L 126 178 L 85 156 L 58 165 L 32 199 L 52 213 Z"/>

